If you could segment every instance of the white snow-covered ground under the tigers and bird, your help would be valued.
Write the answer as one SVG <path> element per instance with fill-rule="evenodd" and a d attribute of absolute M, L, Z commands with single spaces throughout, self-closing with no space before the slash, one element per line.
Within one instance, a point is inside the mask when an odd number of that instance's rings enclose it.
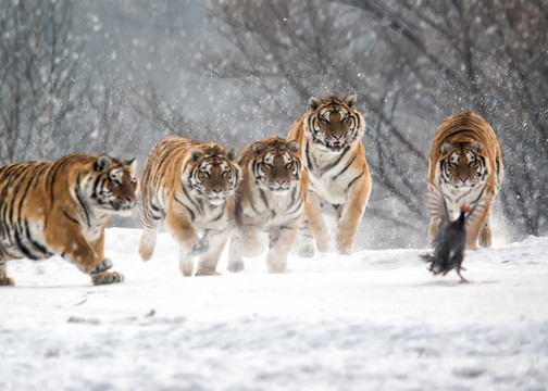
<path fill-rule="evenodd" d="M 425 250 L 361 251 L 267 275 L 184 278 L 162 234 L 111 228 L 125 274 L 94 287 L 60 258 L 9 263 L 0 390 L 547 390 L 548 238 L 469 252 L 431 276 Z"/>

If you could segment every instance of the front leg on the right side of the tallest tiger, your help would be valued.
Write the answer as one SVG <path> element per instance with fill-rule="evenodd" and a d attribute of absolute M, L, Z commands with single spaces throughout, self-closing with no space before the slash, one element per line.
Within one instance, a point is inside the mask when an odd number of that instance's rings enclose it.
<path fill-rule="evenodd" d="M 363 175 L 349 189 L 337 225 L 337 250 L 340 254 L 352 253 L 352 244 L 371 192 L 371 179 L 365 168 Z"/>

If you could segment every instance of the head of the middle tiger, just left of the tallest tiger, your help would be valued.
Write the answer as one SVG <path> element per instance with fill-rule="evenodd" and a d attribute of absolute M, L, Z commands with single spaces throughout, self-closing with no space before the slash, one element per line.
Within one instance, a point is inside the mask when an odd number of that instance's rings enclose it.
<path fill-rule="evenodd" d="M 251 163 L 254 184 L 273 192 L 283 193 L 294 188 L 302 175 L 299 143 L 279 137 L 258 141 L 252 146 Z"/>

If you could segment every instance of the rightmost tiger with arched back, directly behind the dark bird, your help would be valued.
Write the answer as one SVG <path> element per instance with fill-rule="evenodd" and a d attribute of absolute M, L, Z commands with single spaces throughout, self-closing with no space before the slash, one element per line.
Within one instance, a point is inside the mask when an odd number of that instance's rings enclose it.
<path fill-rule="evenodd" d="M 438 127 L 429 154 L 431 184 L 441 189 L 451 219 L 461 205 L 485 206 L 466 229 L 466 248 L 491 245 L 490 207 L 503 179 L 502 154 L 495 131 L 479 115 L 461 112 Z M 439 220 L 431 218 L 428 238 L 436 236 Z"/>

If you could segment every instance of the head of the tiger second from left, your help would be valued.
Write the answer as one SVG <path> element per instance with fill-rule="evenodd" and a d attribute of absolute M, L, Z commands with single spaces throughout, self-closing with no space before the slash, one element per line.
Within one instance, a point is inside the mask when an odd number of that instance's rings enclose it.
<path fill-rule="evenodd" d="M 236 193 L 240 179 L 239 166 L 234 163 L 236 151 L 209 142 L 190 151 L 183 171 L 183 184 L 210 203 L 222 204 Z"/>

